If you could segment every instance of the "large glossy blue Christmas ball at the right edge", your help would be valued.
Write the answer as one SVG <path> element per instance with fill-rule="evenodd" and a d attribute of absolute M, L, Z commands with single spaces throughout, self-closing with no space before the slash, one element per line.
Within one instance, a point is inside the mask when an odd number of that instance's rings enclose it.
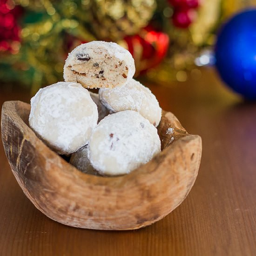
<path fill-rule="evenodd" d="M 256 9 L 238 13 L 221 29 L 216 68 L 230 88 L 256 100 Z"/>

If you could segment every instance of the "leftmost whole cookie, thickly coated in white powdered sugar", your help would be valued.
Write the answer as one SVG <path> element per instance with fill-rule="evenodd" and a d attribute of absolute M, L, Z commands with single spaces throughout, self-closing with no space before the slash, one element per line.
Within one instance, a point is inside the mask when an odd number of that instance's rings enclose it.
<path fill-rule="evenodd" d="M 58 82 L 31 99 L 30 127 L 59 154 L 73 153 L 87 144 L 97 120 L 96 104 L 78 83 Z"/>

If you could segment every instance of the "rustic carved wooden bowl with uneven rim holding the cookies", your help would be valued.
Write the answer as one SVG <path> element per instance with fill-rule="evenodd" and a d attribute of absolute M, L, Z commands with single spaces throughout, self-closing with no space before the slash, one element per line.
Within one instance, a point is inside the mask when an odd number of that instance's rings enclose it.
<path fill-rule="evenodd" d="M 28 127 L 29 112 L 21 101 L 3 104 L 3 145 L 25 195 L 54 221 L 86 229 L 139 229 L 174 210 L 195 182 L 201 137 L 189 135 L 170 112 L 162 113 L 158 127 L 162 152 L 116 177 L 84 174 L 70 165 Z"/>

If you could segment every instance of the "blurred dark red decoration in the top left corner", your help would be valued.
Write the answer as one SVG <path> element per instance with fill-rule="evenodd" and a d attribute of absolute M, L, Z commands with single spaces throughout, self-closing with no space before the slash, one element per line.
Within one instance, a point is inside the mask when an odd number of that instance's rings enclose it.
<path fill-rule="evenodd" d="M 12 1 L 0 0 L 0 52 L 17 53 L 20 42 L 20 27 L 17 19 L 22 14 L 22 8 Z"/>

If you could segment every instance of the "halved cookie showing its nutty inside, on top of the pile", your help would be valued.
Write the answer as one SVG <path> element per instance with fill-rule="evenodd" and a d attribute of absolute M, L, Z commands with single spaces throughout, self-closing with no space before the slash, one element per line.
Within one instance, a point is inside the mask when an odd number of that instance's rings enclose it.
<path fill-rule="evenodd" d="M 135 74 L 128 50 L 112 42 L 92 41 L 74 48 L 64 66 L 64 80 L 86 88 L 114 88 Z"/>

